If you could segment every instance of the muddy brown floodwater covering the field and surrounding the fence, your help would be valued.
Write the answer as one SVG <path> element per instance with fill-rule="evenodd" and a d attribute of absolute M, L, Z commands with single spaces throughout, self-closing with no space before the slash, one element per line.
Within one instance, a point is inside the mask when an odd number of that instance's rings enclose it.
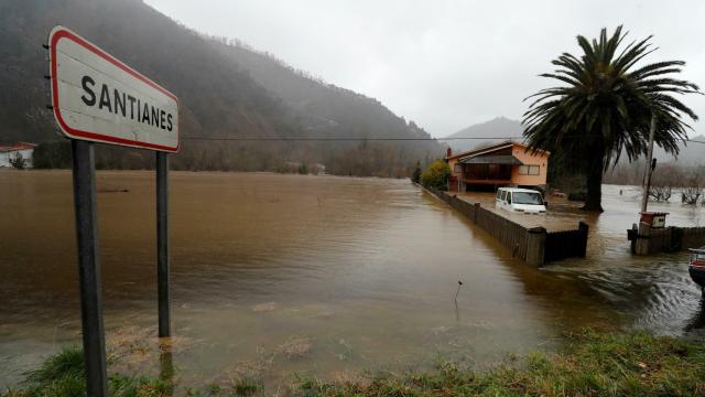
<path fill-rule="evenodd" d="M 175 337 L 160 347 L 153 172 L 98 173 L 110 371 L 155 373 L 161 348 L 184 383 L 250 376 L 271 391 L 293 374 L 482 367 L 585 326 L 699 337 L 705 323 L 687 255 L 629 253 L 628 187 L 605 186 L 599 216 L 555 215 L 590 224 L 588 259 L 538 270 L 406 180 L 172 172 L 171 184 Z M 705 222 L 662 208 L 671 224 Z M 0 388 L 80 343 L 73 216 L 69 172 L 0 172 Z"/>

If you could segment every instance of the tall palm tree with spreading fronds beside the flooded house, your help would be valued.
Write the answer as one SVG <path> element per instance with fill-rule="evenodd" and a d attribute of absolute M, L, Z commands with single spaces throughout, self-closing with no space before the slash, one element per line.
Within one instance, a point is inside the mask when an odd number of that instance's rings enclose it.
<path fill-rule="evenodd" d="M 648 36 L 618 53 L 626 36 L 621 26 L 609 39 L 603 29 L 599 40 L 592 43 L 578 35 L 582 56 L 563 53 L 552 62 L 558 68 L 541 75 L 563 85 L 530 96 L 535 100 L 524 114 L 529 148 L 552 151 L 562 167 L 587 176 L 583 208 L 588 211 L 603 211 L 604 171 L 616 164 L 621 153 L 632 161 L 646 152 L 652 117 L 654 142 L 673 154 L 691 128 L 682 115 L 697 120 L 697 115 L 674 97 L 701 94 L 695 84 L 671 77 L 685 63 L 665 61 L 637 67 L 655 49 Z"/>

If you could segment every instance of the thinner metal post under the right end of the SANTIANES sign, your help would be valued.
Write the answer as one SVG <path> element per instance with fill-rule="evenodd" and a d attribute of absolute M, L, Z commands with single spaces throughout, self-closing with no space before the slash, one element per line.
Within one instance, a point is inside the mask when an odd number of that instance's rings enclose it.
<path fill-rule="evenodd" d="M 171 335 L 171 291 L 169 288 L 169 158 L 156 152 L 156 294 L 159 336 Z"/>

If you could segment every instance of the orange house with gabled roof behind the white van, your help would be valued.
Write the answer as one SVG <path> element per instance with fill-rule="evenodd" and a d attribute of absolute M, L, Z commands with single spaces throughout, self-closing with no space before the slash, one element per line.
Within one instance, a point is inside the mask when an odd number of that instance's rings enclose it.
<path fill-rule="evenodd" d="M 550 152 L 527 150 L 527 146 L 503 141 L 485 148 L 453 154 L 445 160 L 451 168 L 451 191 L 496 191 L 501 186 L 545 189 Z"/>

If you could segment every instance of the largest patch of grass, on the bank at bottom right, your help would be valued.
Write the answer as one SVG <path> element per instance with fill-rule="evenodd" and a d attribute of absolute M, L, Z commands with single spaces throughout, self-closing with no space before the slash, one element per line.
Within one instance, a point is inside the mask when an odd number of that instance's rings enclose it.
<path fill-rule="evenodd" d="M 555 354 L 533 353 L 523 365 L 484 373 L 438 363 L 432 373 L 369 382 L 300 378 L 299 396 L 704 396 L 705 347 L 646 333 L 585 331 Z"/>

